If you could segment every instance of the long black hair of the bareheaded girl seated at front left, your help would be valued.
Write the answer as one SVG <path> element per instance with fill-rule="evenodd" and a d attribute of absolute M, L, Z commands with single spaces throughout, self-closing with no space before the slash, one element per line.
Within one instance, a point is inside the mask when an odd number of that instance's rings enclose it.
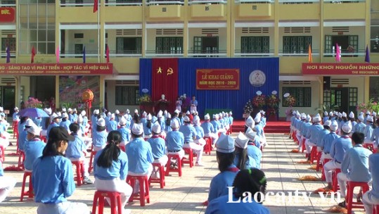
<path fill-rule="evenodd" d="M 96 164 L 101 166 L 102 168 L 110 168 L 113 160 L 118 160 L 118 156 L 120 156 L 120 148 L 118 144 L 120 144 L 122 140 L 121 133 L 118 131 L 111 131 L 108 134 L 107 141 L 108 144 L 101 152 L 101 155 L 98 157 Z"/>

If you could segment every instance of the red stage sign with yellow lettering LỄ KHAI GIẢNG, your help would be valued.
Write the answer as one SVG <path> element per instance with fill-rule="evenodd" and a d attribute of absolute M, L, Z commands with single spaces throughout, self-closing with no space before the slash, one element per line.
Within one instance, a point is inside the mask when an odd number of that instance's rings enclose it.
<path fill-rule="evenodd" d="M 196 89 L 198 90 L 239 90 L 239 69 L 197 69 Z"/>

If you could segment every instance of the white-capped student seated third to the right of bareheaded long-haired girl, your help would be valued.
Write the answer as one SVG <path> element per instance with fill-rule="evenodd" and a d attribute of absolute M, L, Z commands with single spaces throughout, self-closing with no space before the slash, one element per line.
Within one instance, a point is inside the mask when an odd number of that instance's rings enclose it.
<path fill-rule="evenodd" d="M 180 158 L 184 157 L 184 135 L 179 132 L 178 120 L 171 120 L 172 131 L 166 135 L 166 146 L 168 154 L 178 154 Z"/>

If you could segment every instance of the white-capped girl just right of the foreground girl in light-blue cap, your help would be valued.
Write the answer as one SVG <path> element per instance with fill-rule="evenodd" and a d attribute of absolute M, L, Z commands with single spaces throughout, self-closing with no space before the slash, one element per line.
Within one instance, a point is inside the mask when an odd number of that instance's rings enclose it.
<path fill-rule="evenodd" d="M 240 170 L 246 169 L 248 166 L 251 168 L 252 165 L 255 165 L 255 160 L 250 158 L 246 151 L 248 148 L 248 141 L 249 139 L 242 132 L 238 134 L 234 141 L 234 146 L 236 146 L 236 158 L 234 158 L 233 163 Z"/>

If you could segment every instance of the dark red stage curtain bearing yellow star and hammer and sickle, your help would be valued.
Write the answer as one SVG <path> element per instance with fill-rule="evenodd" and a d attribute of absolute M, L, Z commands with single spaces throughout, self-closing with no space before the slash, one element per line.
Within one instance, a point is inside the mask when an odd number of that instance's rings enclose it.
<path fill-rule="evenodd" d="M 151 99 L 159 101 L 165 94 L 165 99 L 169 101 L 169 112 L 174 111 L 178 96 L 178 71 L 178 58 L 152 59 Z"/>

